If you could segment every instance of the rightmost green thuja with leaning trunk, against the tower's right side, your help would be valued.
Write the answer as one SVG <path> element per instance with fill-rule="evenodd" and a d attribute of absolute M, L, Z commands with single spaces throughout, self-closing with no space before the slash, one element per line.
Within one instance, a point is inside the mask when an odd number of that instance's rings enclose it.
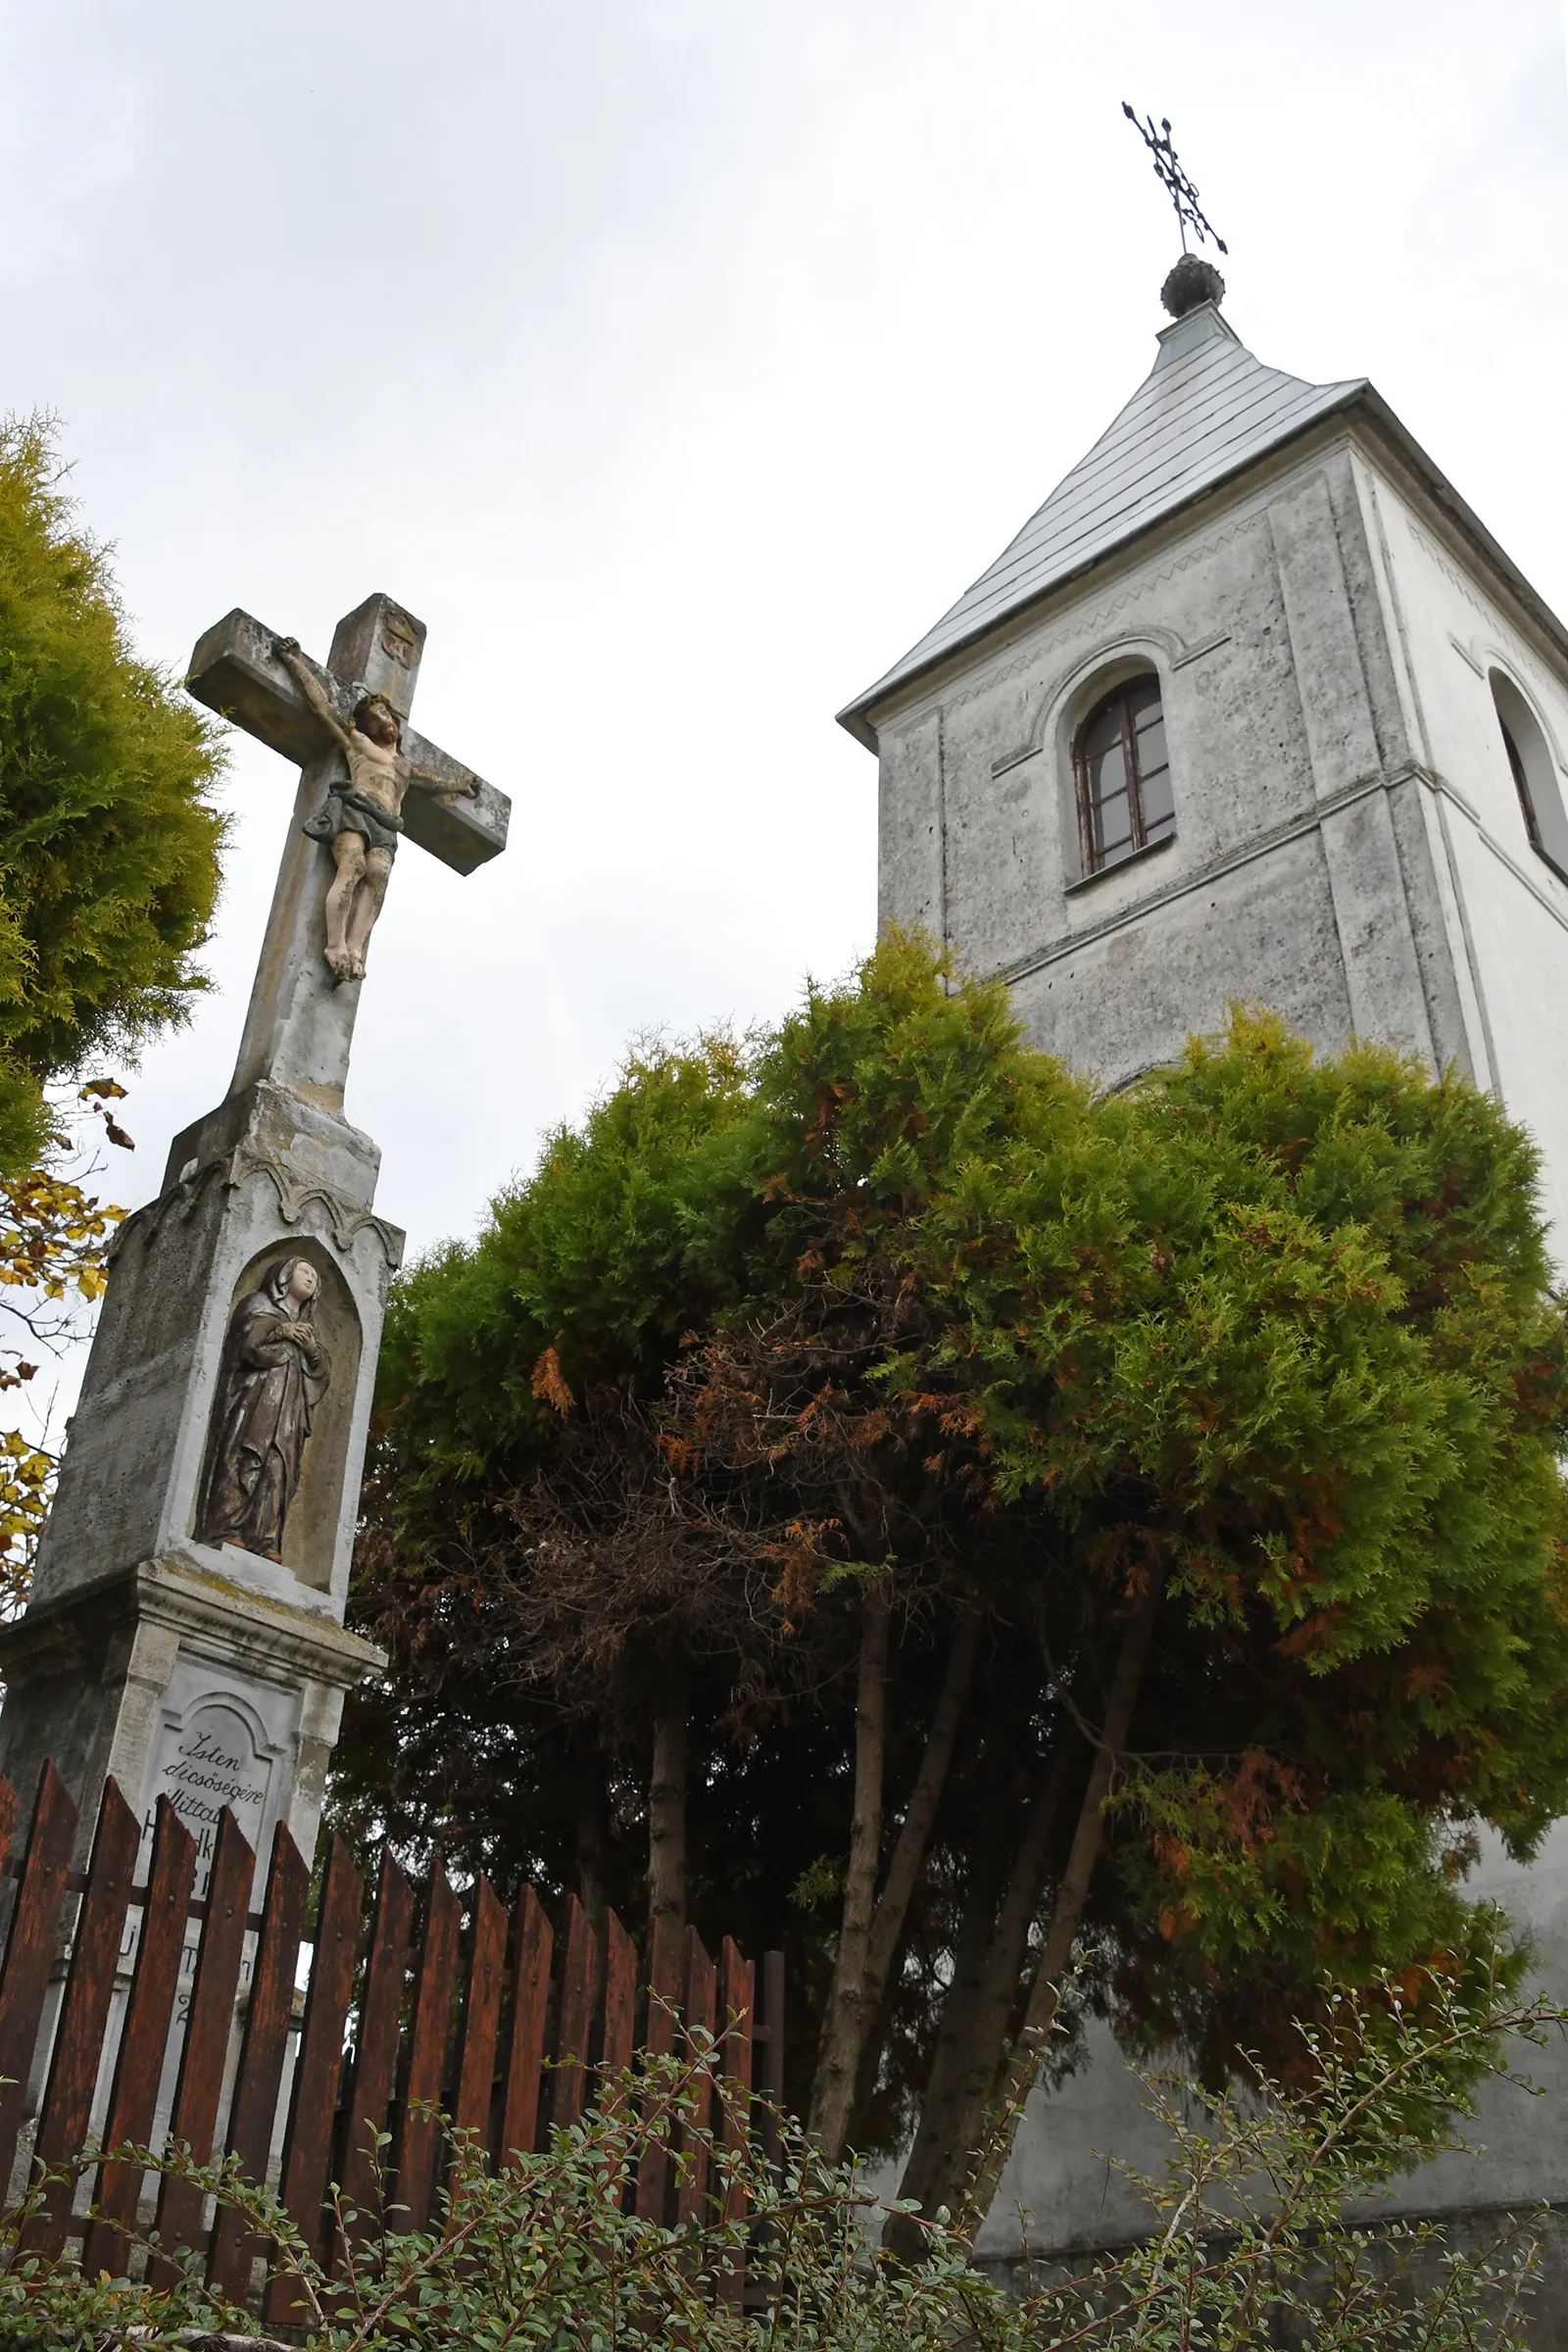
<path fill-rule="evenodd" d="M 1006 2133 L 966 2183 L 969 2150 L 992 2103 L 1018 2112 L 1081 1919 L 1124 2032 L 1218 2074 L 1279 2056 L 1324 1971 L 1465 1980 L 1490 1943 L 1474 1825 L 1528 1856 L 1566 1797 L 1563 1317 L 1530 1143 L 1455 1077 L 1316 1061 L 1262 1016 L 1098 1124 L 1105 1183 L 1013 1155 L 917 1242 L 997 1486 L 1048 1494 L 1114 1623 L 1009 2056 L 978 2053 L 945 2129 L 926 2100 L 910 2159 L 912 2194 L 978 2211 Z"/>

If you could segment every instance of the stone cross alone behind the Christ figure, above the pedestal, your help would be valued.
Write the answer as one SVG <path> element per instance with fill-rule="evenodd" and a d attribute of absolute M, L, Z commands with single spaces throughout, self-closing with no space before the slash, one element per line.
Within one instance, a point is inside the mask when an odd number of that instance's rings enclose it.
<path fill-rule="evenodd" d="M 277 635 L 261 621 L 230 612 L 200 640 L 186 677 L 188 691 L 209 710 L 301 767 L 230 1091 L 275 1080 L 322 1110 L 341 1110 L 362 983 L 334 981 L 327 969 L 331 856 L 301 828 L 320 811 L 327 790 L 346 779 L 346 762 L 275 644 Z M 407 724 L 423 649 L 423 621 L 388 595 L 374 595 L 339 621 L 327 668 L 308 668 L 346 727 L 364 694 L 393 706 L 404 722 L 402 757 L 411 769 L 404 833 L 442 866 L 473 873 L 505 849 L 510 800 Z"/>

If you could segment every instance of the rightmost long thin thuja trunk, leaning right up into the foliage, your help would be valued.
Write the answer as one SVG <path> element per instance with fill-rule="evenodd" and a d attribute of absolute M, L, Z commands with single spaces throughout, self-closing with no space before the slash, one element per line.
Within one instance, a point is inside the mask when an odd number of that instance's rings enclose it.
<path fill-rule="evenodd" d="M 1030 2006 L 1023 2013 L 1023 2027 L 1018 2032 L 1018 2042 L 1013 2044 L 1013 2056 L 1001 2074 L 990 2131 L 964 2199 L 961 2227 L 971 2239 L 990 2211 L 997 2183 L 1001 2180 L 1006 2159 L 1013 2152 L 1018 2124 L 1023 2122 L 1023 2107 L 1034 2086 L 1034 2077 L 1039 2074 L 1039 2060 L 1060 2006 L 1063 1976 L 1067 1973 L 1067 1962 L 1072 1959 L 1072 1945 L 1077 1943 L 1077 1933 L 1084 1922 L 1084 1905 L 1088 1903 L 1088 1882 L 1093 1879 L 1095 1863 L 1100 1860 L 1100 1846 L 1105 1842 L 1105 1799 L 1110 1797 L 1117 1759 L 1121 1757 L 1126 1736 L 1133 1726 L 1138 1684 L 1143 1682 L 1143 1665 L 1150 1656 L 1157 1616 L 1159 1578 L 1150 1583 L 1150 1590 L 1138 1602 L 1126 1635 L 1121 1637 L 1121 1656 L 1117 1658 L 1117 1672 L 1112 1675 L 1110 1700 L 1105 1705 L 1105 1722 L 1088 1766 L 1088 1785 L 1079 1806 L 1077 1830 L 1072 1832 L 1072 1853 L 1067 1856 L 1063 1884 L 1056 1891 L 1056 1910 L 1051 1912 L 1046 1947 L 1039 1955 L 1039 1969 L 1034 1971 Z"/>

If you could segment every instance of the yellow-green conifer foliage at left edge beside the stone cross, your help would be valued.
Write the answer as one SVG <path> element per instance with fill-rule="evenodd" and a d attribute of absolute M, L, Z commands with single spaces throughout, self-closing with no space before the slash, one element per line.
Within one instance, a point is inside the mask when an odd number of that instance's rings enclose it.
<path fill-rule="evenodd" d="M 40 419 L 0 426 L 0 1174 L 40 1087 L 181 1018 L 219 887 L 216 729 L 129 649 Z"/>

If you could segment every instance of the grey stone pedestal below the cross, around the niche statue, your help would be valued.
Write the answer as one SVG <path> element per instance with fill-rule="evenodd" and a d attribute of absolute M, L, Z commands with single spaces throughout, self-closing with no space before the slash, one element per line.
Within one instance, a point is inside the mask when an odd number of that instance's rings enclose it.
<path fill-rule="evenodd" d="M 402 1256 L 376 1169 L 343 1117 L 261 1080 L 176 1138 L 165 1190 L 120 1230 L 33 1604 L 0 1642 L 0 1769 L 26 1806 L 52 1755 L 82 1839 L 115 1773 L 148 1825 L 169 1795 L 202 1858 L 223 1804 L 261 1858 L 280 1816 L 315 1846 L 343 1693 L 381 1665 L 343 1630 Z M 331 1378 L 273 1562 L 193 1529 L 235 1303 L 284 1258 L 317 1272 Z"/>

